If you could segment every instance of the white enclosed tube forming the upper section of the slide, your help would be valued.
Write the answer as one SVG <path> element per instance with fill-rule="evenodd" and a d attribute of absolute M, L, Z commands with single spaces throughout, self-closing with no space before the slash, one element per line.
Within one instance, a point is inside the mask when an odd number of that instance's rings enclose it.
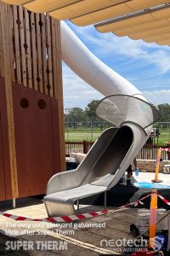
<path fill-rule="evenodd" d="M 104 96 L 125 94 L 145 100 L 133 84 L 99 61 L 64 21 L 61 21 L 61 51 L 63 61 Z"/>

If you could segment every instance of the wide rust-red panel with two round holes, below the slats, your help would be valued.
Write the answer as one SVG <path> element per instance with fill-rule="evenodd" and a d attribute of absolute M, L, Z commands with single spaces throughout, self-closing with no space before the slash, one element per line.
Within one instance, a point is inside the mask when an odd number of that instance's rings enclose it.
<path fill-rule="evenodd" d="M 52 131 L 57 126 L 52 125 L 50 97 L 13 84 L 13 98 L 19 196 L 44 194 L 48 179 L 57 172 Z"/>

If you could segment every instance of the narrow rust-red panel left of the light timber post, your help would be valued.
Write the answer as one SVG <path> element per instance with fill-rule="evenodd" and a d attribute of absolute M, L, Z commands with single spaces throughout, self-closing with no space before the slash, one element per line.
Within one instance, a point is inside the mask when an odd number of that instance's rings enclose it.
<path fill-rule="evenodd" d="M 5 83 L 0 77 L 0 200 L 11 199 Z"/>

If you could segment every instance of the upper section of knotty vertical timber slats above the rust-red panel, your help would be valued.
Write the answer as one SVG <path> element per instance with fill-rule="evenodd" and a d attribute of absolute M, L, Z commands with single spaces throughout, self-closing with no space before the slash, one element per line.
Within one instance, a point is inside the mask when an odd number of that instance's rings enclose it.
<path fill-rule="evenodd" d="M 12 81 L 58 98 L 59 21 L 8 5 L 8 28 Z M 4 77 L 1 30 L 0 26 L 0 75 Z"/>

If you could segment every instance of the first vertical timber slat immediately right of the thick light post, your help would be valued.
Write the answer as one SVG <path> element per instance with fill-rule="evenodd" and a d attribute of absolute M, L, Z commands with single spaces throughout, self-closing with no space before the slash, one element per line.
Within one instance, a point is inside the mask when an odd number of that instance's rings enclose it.
<path fill-rule="evenodd" d="M 16 80 L 18 84 L 21 84 L 21 72 L 20 72 L 20 42 L 19 42 L 19 27 L 17 24 L 18 15 L 17 15 L 17 6 L 13 6 L 13 24 L 14 24 L 14 55 L 15 55 L 15 64 L 16 64 Z"/>

